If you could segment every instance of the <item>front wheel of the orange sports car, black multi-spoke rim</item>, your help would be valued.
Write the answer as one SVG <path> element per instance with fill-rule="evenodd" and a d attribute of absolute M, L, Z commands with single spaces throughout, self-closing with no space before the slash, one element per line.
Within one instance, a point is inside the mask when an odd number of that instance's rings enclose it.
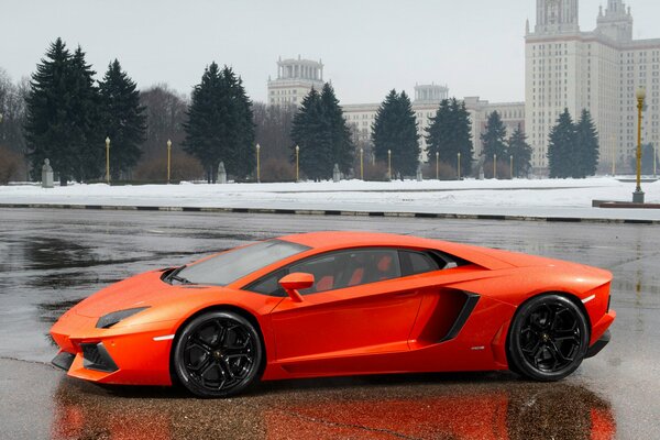
<path fill-rule="evenodd" d="M 174 371 L 200 397 L 229 397 L 256 382 L 264 356 L 260 334 L 242 316 L 210 311 L 188 322 L 174 343 Z"/>

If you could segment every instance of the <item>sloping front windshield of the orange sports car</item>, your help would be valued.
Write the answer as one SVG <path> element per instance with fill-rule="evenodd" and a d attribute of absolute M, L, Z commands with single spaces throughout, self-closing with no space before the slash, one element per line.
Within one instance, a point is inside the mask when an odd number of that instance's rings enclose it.
<path fill-rule="evenodd" d="M 262 267 L 307 251 L 309 248 L 282 240 L 268 240 L 223 252 L 217 256 L 184 267 L 176 273 L 194 284 L 226 286 Z"/>

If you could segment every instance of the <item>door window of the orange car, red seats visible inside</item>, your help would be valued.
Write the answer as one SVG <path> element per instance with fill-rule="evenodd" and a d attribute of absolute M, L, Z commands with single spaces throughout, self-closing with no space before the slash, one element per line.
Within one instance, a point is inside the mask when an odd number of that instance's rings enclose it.
<path fill-rule="evenodd" d="M 315 285 L 302 295 L 359 286 L 402 276 L 398 252 L 391 249 L 366 249 L 333 252 L 289 267 L 289 273 L 312 274 Z"/>

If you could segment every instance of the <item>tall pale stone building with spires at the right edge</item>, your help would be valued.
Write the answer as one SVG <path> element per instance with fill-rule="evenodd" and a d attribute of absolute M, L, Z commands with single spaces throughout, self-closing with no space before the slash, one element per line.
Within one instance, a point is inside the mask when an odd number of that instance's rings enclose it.
<path fill-rule="evenodd" d="M 638 87 L 647 90 L 642 142 L 660 140 L 660 38 L 632 40 L 632 15 L 622 0 L 598 11 L 596 29 L 581 32 L 578 0 L 537 0 L 534 32 L 525 36 L 525 122 L 532 166 L 548 167 L 548 136 L 568 108 L 592 113 L 601 163 L 626 163 L 637 144 Z"/>

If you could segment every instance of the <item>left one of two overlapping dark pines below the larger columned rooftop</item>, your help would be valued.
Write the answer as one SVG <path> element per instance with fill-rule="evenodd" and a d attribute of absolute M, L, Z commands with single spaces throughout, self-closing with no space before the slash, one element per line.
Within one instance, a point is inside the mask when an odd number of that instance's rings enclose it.
<path fill-rule="evenodd" d="M 315 180 L 332 176 L 332 136 L 324 120 L 321 96 L 312 88 L 302 99 L 300 109 L 292 123 L 292 160 L 296 160 L 295 147 L 299 147 L 299 167 Z"/>

